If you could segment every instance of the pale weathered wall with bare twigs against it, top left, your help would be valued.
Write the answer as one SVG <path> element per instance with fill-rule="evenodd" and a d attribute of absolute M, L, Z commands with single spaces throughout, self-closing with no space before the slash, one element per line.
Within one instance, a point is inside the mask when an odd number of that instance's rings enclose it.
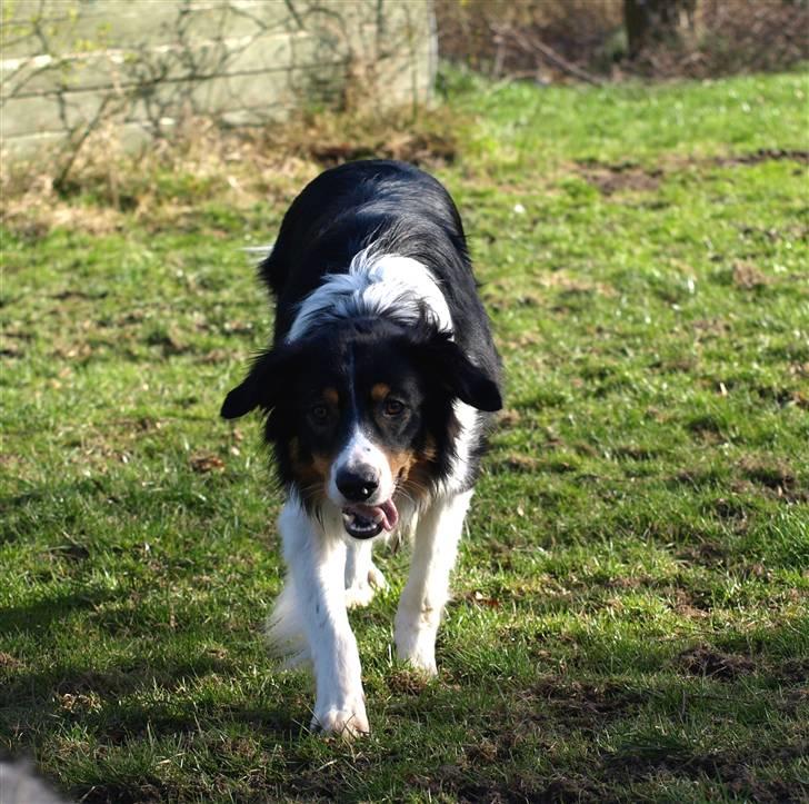
<path fill-rule="evenodd" d="M 431 0 L 3 0 L 3 150 L 428 99 Z"/>

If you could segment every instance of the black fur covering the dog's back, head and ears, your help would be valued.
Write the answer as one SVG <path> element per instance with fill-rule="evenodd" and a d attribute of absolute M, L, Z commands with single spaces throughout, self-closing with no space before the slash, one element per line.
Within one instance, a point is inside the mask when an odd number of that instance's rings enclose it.
<path fill-rule="evenodd" d="M 381 318 L 334 321 L 328 331 L 286 343 L 300 302 L 323 275 L 346 272 L 352 257 L 370 244 L 430 269 L 447 299 L 453 340 L 422 316 L 411 326 Z M 277 302 L 273 348 L 256 359 L 244 383 L 228 395 L 222 416 L 263 409 L 280 477 L 293 484 L 290 438 L 297 439 L 299 459 L 328 453 L 330 439 L 339 440 L 346 421 L 334 423 L 328 434 L 318 431 L 309 411 L 320 405 L 324 387 L 347 387 L 353 371 L 408 398 L 408 431 L 378 437 L 392 448 L 406 441 L 420 448 L 430 438 L 438 448 L 433 479 L 446 477 L 457 428 L 452 400 L 493 411 L 501 407 L 501 397 L 499 357 L 477 295 L 460 216 L 445 188 L 423 171 L 394 161 L 351 162 L 328 170 L 292 202 L 259 270 Z M 473 445 L 468 485 L 475 479 L 483 436 Z"/>

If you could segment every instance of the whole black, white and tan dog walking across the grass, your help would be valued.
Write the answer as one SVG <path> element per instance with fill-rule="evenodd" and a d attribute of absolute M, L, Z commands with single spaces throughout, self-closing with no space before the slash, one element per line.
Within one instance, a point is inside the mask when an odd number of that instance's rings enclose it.
<path fill-rule="evenodd" d="M 311 662 L 312 727 L 368 732 L 347 608 L 386 582 L 374 543 L 412 540 L 396 615 L 400 659 L 436 673 L 485 438 L 501 407 L 500 360 L 463 228 L 431 176 L 394 161 L 342 165 L 289 208 L 259 272 L 276 298 L 272 348 L 222 416 L 266 415 L 288 496 L 288 574 L 268 619 L 287 665 Z"/>

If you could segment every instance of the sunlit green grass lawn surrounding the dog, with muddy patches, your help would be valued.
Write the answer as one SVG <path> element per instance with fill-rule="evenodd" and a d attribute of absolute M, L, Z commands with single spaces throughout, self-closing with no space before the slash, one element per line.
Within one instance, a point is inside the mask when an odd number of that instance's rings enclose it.
<path fill-rule="evenodd" d="M 280 496 L 218 418 L 270 331 L 240 248 L 319 167 L 6 199 L 0 744 L 71 796 L 809 795 L 806 78 L 442 86 L 507 409 L 438 679 L 391 658 L 403 553 L 351 615 L 350 745 L 264 654 Z"/>

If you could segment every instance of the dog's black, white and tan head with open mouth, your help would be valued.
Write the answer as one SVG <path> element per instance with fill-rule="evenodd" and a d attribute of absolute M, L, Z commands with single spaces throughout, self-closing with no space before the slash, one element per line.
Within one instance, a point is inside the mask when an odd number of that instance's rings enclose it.
<path fill-rule="evenodd" d="M 456 399 L 501 407 L 497 384 L 447 332 L 359 319 L 260 355 L 222 416 L 262 409 L 281 479 L 370 538 L 396 526 L 397 499 L 418 499 L 448 474 Z"/>

